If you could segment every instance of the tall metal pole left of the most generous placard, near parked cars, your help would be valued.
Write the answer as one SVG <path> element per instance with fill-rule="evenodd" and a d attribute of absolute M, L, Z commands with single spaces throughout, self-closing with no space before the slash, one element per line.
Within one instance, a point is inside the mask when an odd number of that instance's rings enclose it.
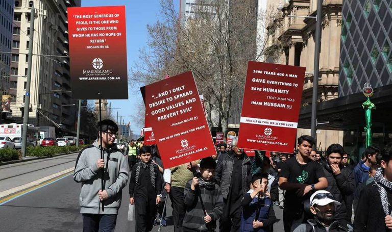
<path fill-rule="evenodd" d="M 23 130 L 22 130 L 22 157 L 26 157 L 26 144 L 27 144 L 27 128 L 29 123 L 29 107 L 30 107 L 30 81 L 31 81 L 31 66 L 33 59 L 33 38 L 34 38 L 34 6 L 31 7 L 30 13 L 30 39 L 29 39 L 29 57 L 27 66 L 27 82 L 26 93 L 24 98 L 23 108 Z"/>

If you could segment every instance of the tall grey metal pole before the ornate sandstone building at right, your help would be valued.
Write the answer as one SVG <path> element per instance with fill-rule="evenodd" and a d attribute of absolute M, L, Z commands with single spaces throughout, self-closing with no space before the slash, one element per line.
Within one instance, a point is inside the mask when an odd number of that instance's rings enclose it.
<path fill-rule="evenodd" d="M 318 64 L 320 62 L 320 46 L 321 46 L 321 16 L 323 11 L 323 0 L 317 0 L 317 18 L 316 18 L 316 34 L 314 47 L 314 76 L 313 76 L 313 96 L 312 96 L 312 122 L 311 136 L 316 137 L 317 126 L 317 98 L 318 98 Z"/>

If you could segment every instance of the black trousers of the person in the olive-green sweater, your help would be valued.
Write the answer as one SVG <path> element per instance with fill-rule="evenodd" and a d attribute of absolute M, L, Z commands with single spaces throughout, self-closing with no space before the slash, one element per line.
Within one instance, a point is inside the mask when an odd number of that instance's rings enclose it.
<path fill-rule="evenodd" d="M 173 208 L 174 231 L 182 231 L 182 222 L 185 216 L 184 188 L 171 187 L 171 208 Z"/>

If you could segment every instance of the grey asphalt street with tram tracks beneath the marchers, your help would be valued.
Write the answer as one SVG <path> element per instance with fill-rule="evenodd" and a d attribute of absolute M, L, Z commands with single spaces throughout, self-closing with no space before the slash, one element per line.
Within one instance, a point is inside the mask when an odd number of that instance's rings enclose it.
<path fill-rule="evenodd" d="M 42 178 L 42 175 L 36 175 L 36 172 L 44 172 L 46 175 L 58 173 L 68 167 L 75 166 L 76 154 L 61 156 L 57 158 L 44 159 L 39 161 L 29 161 L 12 166 L 0 166 L 2 176 L 6 172 L 8 179 L 0 181 L 2 191 L 3 183 L 13 178 Z M 62 164 L 60 164 L 63 162 Z M 56 163 L 58 165 L 54 166 Z M 28 169 L 35 166 L 36 171 Z M 22 174 L 23 170 L 26 174 Z M 29 172 L 29 173 L 27 173 Z M 17 175 L 12 177 L 12 175 Z M 24 183 L 24 182 L 23 182 Z M 79 193 L 80 184 L 74 182 L 72 174 L 65 175 L 50 184 L 24 193 L 19 197 L 2 204 L 3 198 L 0 198 L 0 218 L 1 231 L 81 231 L 82 216 L 79 213 Z M 167 206 L 167 226 L 161 227 L 161 231 L 173 231 L 173 221 L 171 217 L 170 201 Z M 133 231 L 135 221 L 128 221 L 129 195 L 128 185 L 122 194 L 122 205 L 119 210 L 117 225 L 115 231 Z M 275 207 L 277 218 L 282 218 L 282 210 Z M 154 226 L 152 231 L 158 231 L 158 225 Z M 283 223 L 279 221 L 274 226 L 274 231 L 283 231 Z"/>

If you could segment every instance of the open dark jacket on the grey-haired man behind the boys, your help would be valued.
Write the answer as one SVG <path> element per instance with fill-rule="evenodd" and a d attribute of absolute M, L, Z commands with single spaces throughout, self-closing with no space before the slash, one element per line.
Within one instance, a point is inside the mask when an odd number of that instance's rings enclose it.
<path fill-rule="evenodd" d="M 246 194 L 249 191 L 249 185 L 247 183 L 247 177 L 251 170 L 251 160 L 243 152 L 242 161 L 242 193 Z M 231 173 L 233 172 L 233 163 L 235 154 L 234 151 L 230 151 L 228 154 L 222 154 L 216 163 L 215 169 L 215 180 L 222 190 L 223 198 L 227 198 L 231 184 Z"/>

